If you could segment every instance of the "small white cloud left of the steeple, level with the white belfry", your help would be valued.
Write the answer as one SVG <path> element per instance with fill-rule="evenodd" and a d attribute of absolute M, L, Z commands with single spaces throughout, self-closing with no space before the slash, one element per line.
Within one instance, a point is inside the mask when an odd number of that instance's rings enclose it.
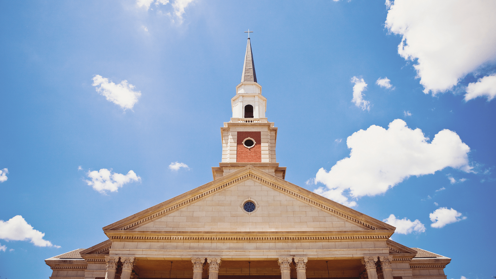
<path fill-rule="evenodd" d="M 134 85 L 128 84 L 127 80 L 121 81 L 119 84 L 115 84 L 109 81 L 108 78 L 102 77 L 96 74 L 93 77 L 93 86 L 96 87 L 96 91 L 105 98 L 107 101 L 111 101 L 123 108 L 132 109 L 135 103 L 138 102 L 138 98 L 141 96 L 140 91 L 134 91 Z"/>

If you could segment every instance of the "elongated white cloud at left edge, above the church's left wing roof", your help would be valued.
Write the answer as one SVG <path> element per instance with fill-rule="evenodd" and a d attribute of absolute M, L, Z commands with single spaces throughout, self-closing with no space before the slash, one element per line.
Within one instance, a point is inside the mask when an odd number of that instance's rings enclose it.
<path fill-rule="evenodd" d="M 43 239 L 44 236 L 43 232 L 35 230 L 21 215 L 13 216 L 8 221 L 0 220 L 0 239 L 6 241 L 30 240 L 35 246 L 60 248 L 60 246 L 53 245 L 50 241 Z"/>

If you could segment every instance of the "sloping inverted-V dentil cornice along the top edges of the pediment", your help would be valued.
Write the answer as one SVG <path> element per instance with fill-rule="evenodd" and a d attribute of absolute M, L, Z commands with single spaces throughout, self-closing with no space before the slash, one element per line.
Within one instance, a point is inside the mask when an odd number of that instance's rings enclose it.
<path fill-rule="evenodd" d="M 103 230 L 107 231 L 135 229 L 142 224 L 146 224 L 157 218 L 185 208 L 186 206 L 194 204 L 195 202 L 205 197 L 216 194 L 218 191 L 230 188 L 248 179 L 256 180 L 257 182 L 264 184 L 269 188 L 284 193 L 288 196 L 292 196 L 293 198 L 301 202 L 333 214 L 341 219 L 354 222 L 362 228 L 369 230 L 394 230 L 394 227 L 389 224 L 386 224 L 354 209 L 350 209 L 334 201 L 326 199 L 320 195 L 310 192 L 307 189 L 289 183 L 284 179 L 268 174 L 253 166 L 244 167 L 207 184 L 204 184 L 198 188 L 190 190 L 173 199 L 165 201 L 149 209 L 140 211 L 134 215 L 105 226 Z"/>

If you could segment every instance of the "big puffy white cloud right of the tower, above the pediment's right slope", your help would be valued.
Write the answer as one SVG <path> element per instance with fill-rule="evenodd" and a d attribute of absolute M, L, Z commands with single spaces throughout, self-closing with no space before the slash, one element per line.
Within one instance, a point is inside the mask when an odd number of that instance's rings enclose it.
<path fill-rule="evenodd" d="M 386 130 L 372 125 L 353 133 L 346 141 L 350 156 L 338 161 L 330 171 L 320 168 L 315 183 L 323 183 L 315 193 L 347 206 L 348 199 L 385 193 L 408 177 L 433 174 L 452 167 L 471 172 L 470 147 L 452 131 L 442 130 L 429 142 L 420 129 L 412 130 L 396 119 Z M 345 193 L 346 192 L 346 196 Z"/>

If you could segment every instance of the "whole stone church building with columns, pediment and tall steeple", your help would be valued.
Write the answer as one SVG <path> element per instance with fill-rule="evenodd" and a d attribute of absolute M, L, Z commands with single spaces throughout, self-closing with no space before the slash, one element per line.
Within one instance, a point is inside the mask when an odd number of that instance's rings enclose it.
<path fill-rule="evenodd" d="M 446 279 L 450 258 L 394 242 L 395 227 L 285 180 L 249 38 L 231 105 L 211 182 L 45 260 L 50 278 Z"/>

